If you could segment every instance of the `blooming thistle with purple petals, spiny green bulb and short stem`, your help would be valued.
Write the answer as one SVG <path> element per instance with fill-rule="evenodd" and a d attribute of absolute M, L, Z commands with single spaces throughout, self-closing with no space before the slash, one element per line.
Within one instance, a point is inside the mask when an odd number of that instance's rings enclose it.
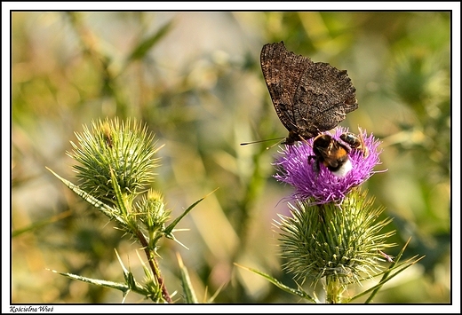
<path fill-rule="evenodd" d="M 332 138 L 341 141 L 346 131 L 339 128 Z M 314 167 L 313 139 L 285 146 L 275 161 L 275 178 L 294 187 L 288 204 L 291 216 L 279 215 L 276 222 L 283 268 L 295 280 L 314 286 L 323 280 L 327 303 L 345 302 L 347 285 L 382 272 L 383 250 L 394 246 L 386 243 L 394 232 L 381 232 L 391 219 L 376 222 L 383 209 L 374 209 L 373 200 L 359 187 L 378 172 L 379 141 L 365 132 L 360 136 L 364 147 L 348 150 L 351 170 L 341 177 L 323 164 Z"/>

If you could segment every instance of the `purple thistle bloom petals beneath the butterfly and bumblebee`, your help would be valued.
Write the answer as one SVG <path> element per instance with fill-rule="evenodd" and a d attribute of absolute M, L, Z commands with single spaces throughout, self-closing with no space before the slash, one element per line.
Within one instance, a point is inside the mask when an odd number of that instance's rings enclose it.
<path fill-rule="evenodd" d="M 339 138 L 347 131 L 346 128 L 339 127 L 332 138 L 344 144 Z M 365 131 L 362 131 L 362 137 L 368 154 L 363 154 L 359 149 L 352 149 L 348 154 L 352 169 L 342 177 L 334 175 L 323 163 L 320 163 L 319 171 L 316 171 L 316 161 L 310 157 L 315 155 L 312 147 L 314 139 L 311 138 L 307 142 L 300 141 L 296 145 L 286 145 L 282 148 L 279 153 L 283 155 L 274 163 L 277 171 L 275 178 L 295 188 L 291 195 L 295 200 L 312 199 L 316 204 L 340 203 L 352 188 L 361 185 L 372 174 L 378 172 L 372 169 L 380 164 L 378 154 L 381 154 L 382 150 L 378 151 L 378 145 L 381 142 L 372 134 L 368 137 Z"/>

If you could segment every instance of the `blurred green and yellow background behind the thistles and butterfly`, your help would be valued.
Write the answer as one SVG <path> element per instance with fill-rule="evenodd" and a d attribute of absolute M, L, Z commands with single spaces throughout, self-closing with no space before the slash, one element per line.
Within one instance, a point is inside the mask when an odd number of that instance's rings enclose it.
<path fill-rule="evenodd" d="M 202 302 L 223 286 L 216 303 L 298 303 L 234 265 L 295 287 L 273 227 L 291 193 L 272 177 L 277 147 L 239 146 L 287 135 L 259 66 L 263 44 L 281 40 L 348 71 L 359 109 L 341 125 L 383 141 L 387 171 L 364 188 L 394 217 L 387 254 L 411 237 L 405 256 L 426 256 L 374 302 L 450 303 L 448 12 L 12 12 L 12 303 L 119 303 L 118 291 L 45 270 L 123 281 L 115 248 L 144 277 L 137 245 L 45 169 L 76 182 L 74 131 L 115 116 L 165 145 L 153 187 L 173 217 L 219 187 L 179 224 L 188 250 L 163 241 L 174 299 L 179 252 Z"/>

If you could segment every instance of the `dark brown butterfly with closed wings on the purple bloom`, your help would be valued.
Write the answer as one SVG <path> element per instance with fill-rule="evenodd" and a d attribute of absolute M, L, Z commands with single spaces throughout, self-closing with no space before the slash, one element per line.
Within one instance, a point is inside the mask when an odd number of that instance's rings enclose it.
<path fill-rule="evenodd" d="M 283 144 L 331 130 L 358 108 L 346 70 L 296 55 L 283 42 L 264 45 L 260 64 L 276 114 L 289 130 Z"/>

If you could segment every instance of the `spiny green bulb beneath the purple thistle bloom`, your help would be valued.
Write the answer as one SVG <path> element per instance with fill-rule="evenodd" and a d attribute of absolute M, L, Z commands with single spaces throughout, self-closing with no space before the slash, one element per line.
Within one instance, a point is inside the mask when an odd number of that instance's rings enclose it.
<path fill-rule="evenodd" d="M 336 277 L 340 283 L 360 282 L 381 271 L 382 250 L 394 232 L 380 232 L 390 219 L 377 221 L 384 209 L 354 190 L 341 206 L 289 203 L 291 216 L 279 215 L 284 268 L 299 280 Z M 339 211 L 341 209 L 341 211 Z"/>

